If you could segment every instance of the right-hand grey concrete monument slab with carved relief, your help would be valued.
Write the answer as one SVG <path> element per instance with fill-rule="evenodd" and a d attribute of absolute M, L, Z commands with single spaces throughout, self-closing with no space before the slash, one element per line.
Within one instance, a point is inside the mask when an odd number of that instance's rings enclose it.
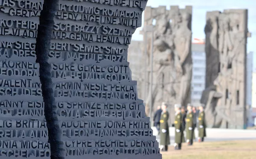
<path fill-rule="evenodd" d="M 207 125 L 244 128 L 247 10 L 207 12 L 205 34 L 206 90 L 201 102 L 206 104 Z"/>

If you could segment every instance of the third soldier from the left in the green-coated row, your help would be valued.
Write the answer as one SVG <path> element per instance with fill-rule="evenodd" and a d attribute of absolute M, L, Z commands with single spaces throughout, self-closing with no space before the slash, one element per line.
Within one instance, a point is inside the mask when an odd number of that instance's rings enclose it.
<path fill-rule="evenodd" d="M 193 139 L 194 139 L 194 113 L 192 112 L 192 106 L 191 104 L 187 105 L 187 116 L 186 116 L 186 138 L 188 145 L 193 145 Z"/>

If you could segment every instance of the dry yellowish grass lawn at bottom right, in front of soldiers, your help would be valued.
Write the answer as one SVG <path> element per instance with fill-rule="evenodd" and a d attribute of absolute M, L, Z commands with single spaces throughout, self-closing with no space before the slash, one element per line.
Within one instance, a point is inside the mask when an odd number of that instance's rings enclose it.
<path fill-rule="evenodd" d="M 162 152 L 163 159 L 256 159 L 256 140 L 229 142 L 194 142 L 182 145 L 182 150 L 168 147 Z"/>

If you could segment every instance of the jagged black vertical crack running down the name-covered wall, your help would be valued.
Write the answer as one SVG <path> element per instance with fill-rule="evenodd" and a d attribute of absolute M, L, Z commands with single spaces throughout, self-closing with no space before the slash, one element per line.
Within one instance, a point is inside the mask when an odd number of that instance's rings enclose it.
<path fill-rule="evenodd" d="M 39 17 L 38 34 L 36 38 L 36 62 L 39 64 L 39 78 L 41 81 L 44 99 L 44 116 L 48 129 L 48 142 L 50 143 L 51 159 L 64 159 L 62 156 L 61 131 L 56 115 L 56 104 L 53 95 L 53 81 L 51 64 L 48 63 L 48 52 L 52 38 L 54 15 L 59 0 L 44 0 L 43 10 Z"/>

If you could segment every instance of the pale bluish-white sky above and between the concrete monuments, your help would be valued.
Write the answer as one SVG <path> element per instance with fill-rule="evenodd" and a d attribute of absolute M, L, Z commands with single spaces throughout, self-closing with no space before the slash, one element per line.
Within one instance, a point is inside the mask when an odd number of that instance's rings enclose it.
<path fill-rule="evenodd" d="M 178 5 L 179 8 L 184 8 L 186 5 L 193 6 L 193 38 L 202 39 L 205 38 L 203 30 L 206 22 L 205 17 L 207 11 L 223 11 L 224 9 L 248 9 L 248 29 L 252 33 L 252 37 L 248 38 L 247 52 L 256 52 L 256 0 L 148 0 L 147 2 L 147 6 L 151 7 L 171 5 Z M 139 35 L 141 28 L 138 28 L 135 31 L 135 33 L 132 35 L 132 40 L 143 40 L 142 35 Z"/>

